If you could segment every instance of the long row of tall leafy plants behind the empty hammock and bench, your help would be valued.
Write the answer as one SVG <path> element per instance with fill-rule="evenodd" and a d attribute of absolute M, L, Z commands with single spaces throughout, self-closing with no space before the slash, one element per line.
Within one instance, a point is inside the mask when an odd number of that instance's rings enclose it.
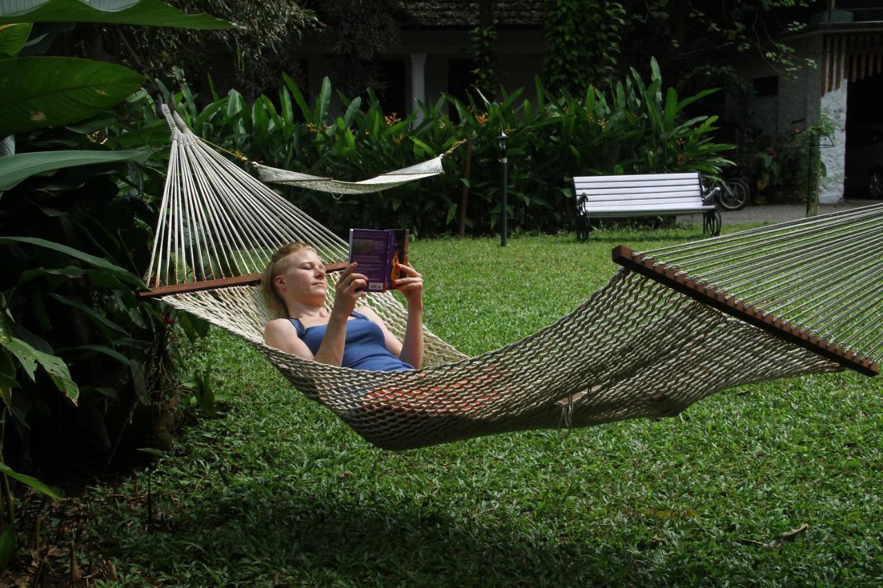
<path fill-rule="evenodd" d="M 584 95 L 553 94 L 537 82 L 536 100 L 519 88 L 499 102 L 463 103 L 446 96 L 421 105 L 404 120 L 385 115 L 373 93 L 366 100 L 341 95 L 342 115 L 331 114 L 332 90 L 326 80 L 315 102 L 286 78 L 275 100 L 260 96 L 249 104 L 231 91 L 212 96 L 204 109 L 189 88 L 176 94 L 185 120 L 198 135 L 230 152 L 275 167 L 338 179 L 363 179 L 441 154 L 472 138 L 472 177 L 466 223 L 472 234 L 494 230 L 499 217 L 500 167 L 496 137 L 509 135 L 509 218 L 514 230 L 556 232 L 570 227 L 574 204 L 570 177 L 698 170 L 720 174 L 728 146 L 713 142 L 715 117 L 684 119 L 683 110 L 709 94 L 679 99 L 665 90 L 653 64 L 649 83 L 631 72 L 609 90 Z M 155 103 L 140 94 L 130 106 L 130 125 L 111 129 L 121 147 L 155 141 L 165 148 L 165 122 Z M 454 123 L 446 110 L 456 110 Z M 118 133 L 118 136 L 117 136 Z M 161 164 L 162 150 L 154 164 Z M 455 230 L 460 192 L 467 180 L 465 149 L 444 159 L 446 173 L 376 196 L 343 196 L 291 190 L 294 202 L 323 224 L 344 233 L 353 226 L 381 226 L 389 219 L 417 234 Z M 148 193 L 156 193 L 154 186 Z"/>

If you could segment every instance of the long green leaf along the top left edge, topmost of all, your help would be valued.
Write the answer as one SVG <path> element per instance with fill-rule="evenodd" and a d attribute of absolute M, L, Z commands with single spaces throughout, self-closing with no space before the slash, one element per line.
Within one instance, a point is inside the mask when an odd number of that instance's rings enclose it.
<path fill-rule="evenodd" d="M 217 30 L 233 25 L 208 14 L 185 14 L 159 0 L 4 0 L 0 24 L 21 22 L 101 22 L 117 25 L 176 26 Z"/>

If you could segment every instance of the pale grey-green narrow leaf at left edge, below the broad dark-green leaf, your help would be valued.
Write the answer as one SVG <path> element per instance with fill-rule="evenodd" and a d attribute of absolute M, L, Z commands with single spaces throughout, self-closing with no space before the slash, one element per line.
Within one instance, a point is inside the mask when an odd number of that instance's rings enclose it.
<path fill-rule="evenodd" d="M 168 133 L 166 133 L 168 134 Z M 40 151 L 0 157 L 0 192 L 34 174 L 95 163 L 131 162 L 147 158 L 144 151 Z"/>

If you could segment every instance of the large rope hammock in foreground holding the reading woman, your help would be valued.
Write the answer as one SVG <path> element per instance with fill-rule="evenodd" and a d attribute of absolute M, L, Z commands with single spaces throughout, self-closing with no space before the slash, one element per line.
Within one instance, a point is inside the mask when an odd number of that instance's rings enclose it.
<path fill-rule="evenodd" d="M 623 268 L 576 310 L 476 357 L 427 329 L 421 370 L 291 356 L 263 343 L 271 317 L 257 276 L 285 243 L 313 245 L 331 268 L 343 267 L 346 244 L 163 110 L 171 155 L 144 296 L 243 338 L 381 449 L 674 416 L 724 388 L 844 367 L 879 373 L 883 205 L 643 253 L 617 248 Z M 389 292 L 366 303 L 404 335 L 406 311 Z"/>

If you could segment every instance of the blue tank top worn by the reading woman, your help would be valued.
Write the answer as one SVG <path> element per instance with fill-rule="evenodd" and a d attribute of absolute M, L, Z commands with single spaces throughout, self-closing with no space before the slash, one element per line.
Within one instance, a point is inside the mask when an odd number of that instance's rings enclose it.
<path fill-rule="evenodd" d="M 414 366 L 396 358 L 387 349 L 380 325 L 356 311 L 353 311 L 351 316 L 355 317 L 355 320 L 346 321 L 346 339 L 343 343 L 341 366 L 372 372 L 414 369 Z M 289 320 L 291 320 L 294 328 L 298 329 L 300 340 L 306 343 L 306 346 L 315 355 L 319 351 L 322 339 L 325 337 L 327 325 L 304 328 L 304 323 L 300 322 L 299 319 Z"/>

